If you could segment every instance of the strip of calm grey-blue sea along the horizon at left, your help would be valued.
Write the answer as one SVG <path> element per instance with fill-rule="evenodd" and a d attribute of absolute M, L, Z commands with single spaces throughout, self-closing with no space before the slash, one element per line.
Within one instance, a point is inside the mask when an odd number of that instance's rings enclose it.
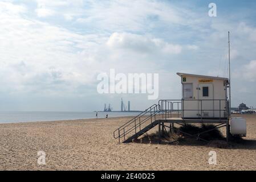
<path fill-rule="evenodd" d="M 97 118 L 136 116 L 140 112 L 98 112 Z M 96 118 L 96 112 L 69 111 L 0 111 L 0 123 L 58 121 Z"/>

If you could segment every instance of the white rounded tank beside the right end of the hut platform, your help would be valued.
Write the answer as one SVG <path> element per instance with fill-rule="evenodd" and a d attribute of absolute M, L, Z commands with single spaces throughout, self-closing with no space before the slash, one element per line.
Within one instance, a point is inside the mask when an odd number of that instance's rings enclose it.
<path fill-rule="evenodd" d="M 246 135 L 246 119 L 241 117 L 231 118 L 230 134 Z"/>

